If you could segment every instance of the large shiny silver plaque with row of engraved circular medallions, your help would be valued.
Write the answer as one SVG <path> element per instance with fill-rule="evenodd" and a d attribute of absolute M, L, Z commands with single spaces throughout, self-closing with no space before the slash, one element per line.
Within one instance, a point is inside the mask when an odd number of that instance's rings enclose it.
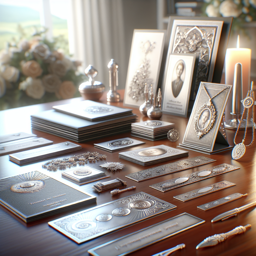
<path fill-rule="evenodd" d="M 75 242 L 82 243 L 174 208 L 173 204 L 140 192 L 48 224 Z"/>

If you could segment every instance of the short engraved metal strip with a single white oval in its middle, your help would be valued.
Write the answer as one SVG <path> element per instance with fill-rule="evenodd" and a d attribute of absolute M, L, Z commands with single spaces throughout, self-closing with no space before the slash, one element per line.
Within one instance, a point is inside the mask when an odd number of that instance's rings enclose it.
<path fill-rule="evenodd" d="M 186 202 L 186 201 L 189 201 L 191 199 L 194 199 L 194 198 L 197 198 L 197 197 L 200 197 L 200 196 L 204 196 L 204 195 L 210 194 L 212 192 L 215 192 L 215 191 L 218 191 L 218 190 L 221 190 L 221 189 L 224 189 L 224 188 L 229 188 L 229 187 L 232 187 L 232 186 L 235 186 L 235 185 L 236 184 L 234 184 L 232 182 L 229 182 L 227 180 L 222 180 L 221 182 L 214 183 L 214 184 L 212 184 L 210 186 L 207 186 L 207 187 L 198 188 L 198 189 L 192 190 L 188 193 L 181 194 L 181 195 L 178 195 L 178 196 L 174 196 L 173 198 L 176 198 L 180 201 Z"/>

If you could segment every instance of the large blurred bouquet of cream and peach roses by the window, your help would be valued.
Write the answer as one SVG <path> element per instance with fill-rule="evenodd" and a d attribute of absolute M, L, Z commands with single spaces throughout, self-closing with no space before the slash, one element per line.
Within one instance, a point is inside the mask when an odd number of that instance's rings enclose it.
<path fill-rule="evenodd" d="M 81 62 L 56 49 L 45 31 L 0 51 L 0 110 L 80 96 Z"/>

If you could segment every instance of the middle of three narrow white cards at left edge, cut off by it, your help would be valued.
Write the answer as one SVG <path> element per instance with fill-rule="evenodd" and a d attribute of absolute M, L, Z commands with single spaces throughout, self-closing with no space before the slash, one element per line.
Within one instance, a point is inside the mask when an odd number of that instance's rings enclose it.
<path fill-rule="evenodd" d="M 33 148 L 38 148 L 42 146 L 51 145 L 53 141 L 46 140 L 45 138 L 34 138 L 25 141 L 12 141 L 11 143 L 1 143 L 0 144 L 0 156 L 20 152 L 23 150 L 29 150 Z"/>

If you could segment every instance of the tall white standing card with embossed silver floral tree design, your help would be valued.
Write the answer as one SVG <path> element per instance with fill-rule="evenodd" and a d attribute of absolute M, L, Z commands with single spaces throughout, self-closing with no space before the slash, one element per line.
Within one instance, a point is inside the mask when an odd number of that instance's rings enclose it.
<path fill-rule="evenodd" d="M 145 101 L 145 83 L 156 93 L 166 30 L 134 29 L 126 77 L 124 106 L 140 107 Z"/>

